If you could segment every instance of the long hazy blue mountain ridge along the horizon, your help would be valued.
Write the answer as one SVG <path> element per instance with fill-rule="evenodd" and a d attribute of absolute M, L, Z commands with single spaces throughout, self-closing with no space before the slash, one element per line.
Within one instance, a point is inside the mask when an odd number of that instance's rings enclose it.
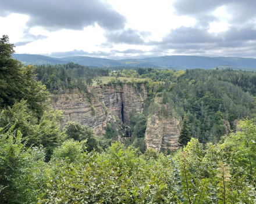
<path fill-rule="evenodd" d="M 48 57 L 40 54 L 12 54 L 14 59 L 28 64 L 66 64 L 73 62 L 81 65 L 96 67 L 161 67 L 186 70 L 191 68 L 216 68 L 216 67 L 247 67 L 256 68 L 256 59 L 243 57 L 202 57 L 202 56 L 162 56 L 147 57 L 144 59 L 111 60 L 97 57 Z"/>

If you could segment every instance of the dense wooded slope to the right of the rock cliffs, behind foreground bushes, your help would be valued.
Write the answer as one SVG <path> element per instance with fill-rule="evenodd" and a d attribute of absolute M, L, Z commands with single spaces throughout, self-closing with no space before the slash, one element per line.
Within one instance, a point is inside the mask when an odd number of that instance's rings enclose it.
<path fill-rule="evenodd" d="M 152 70 L 139 68 L 141 77 L 154 82 L 146 86 L 151 98 L 162 96 L 169 115 L 187 115 L 191 134 L 201 143 L 215 143 L 233 129 L 237 119 L 253 118 L 256 74 L 225 70 Z M 154 84 L 154 85 L 153 85 Z M 154 104 L 148 103 L 150 106 Z M 145 107 L 145 115 L 150 114 Z"/>

